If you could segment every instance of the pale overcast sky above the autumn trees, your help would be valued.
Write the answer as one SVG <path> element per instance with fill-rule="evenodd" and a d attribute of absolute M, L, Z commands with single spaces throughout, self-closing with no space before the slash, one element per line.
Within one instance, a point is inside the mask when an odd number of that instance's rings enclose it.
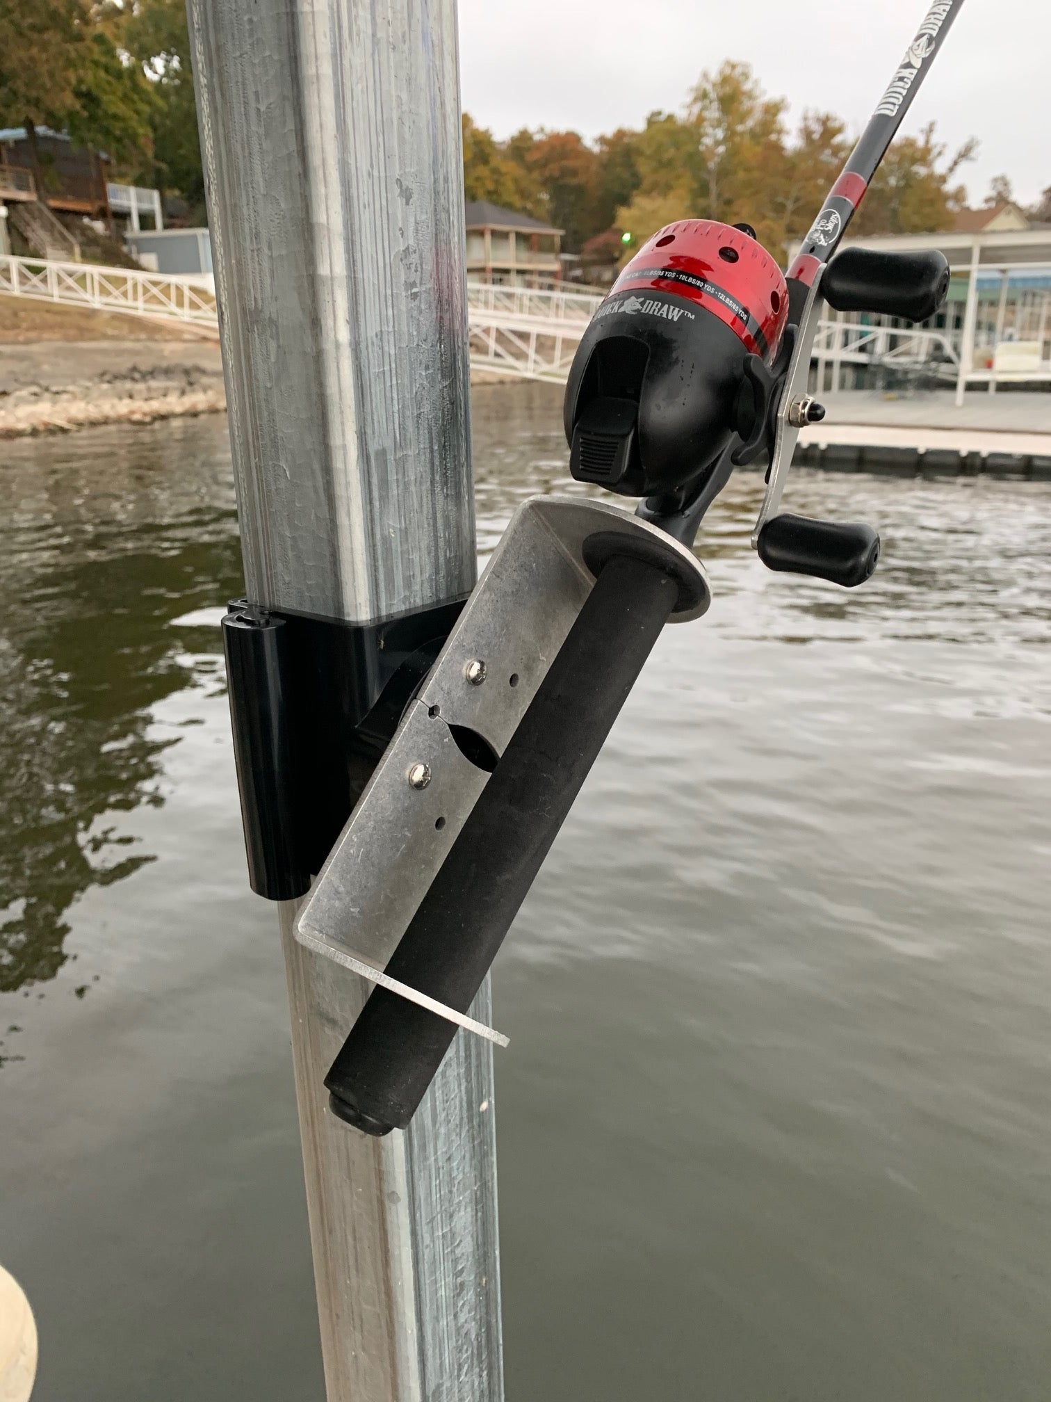
<path fill-rule="evenodd" d="M 767 93 L 869 118 L 926 0 L 458 0 L 464 111 L 497 136 L 521 126 L 586 137 L 678 109 L 702 69 L 744 59 Z M 1051 185 L 1051 0 L 967 0 L 902 130 L 930 119 L 971 202 L 1006 174 L 1023 203 Z M 740 212 L 747 217 L 747 210 Z"/>

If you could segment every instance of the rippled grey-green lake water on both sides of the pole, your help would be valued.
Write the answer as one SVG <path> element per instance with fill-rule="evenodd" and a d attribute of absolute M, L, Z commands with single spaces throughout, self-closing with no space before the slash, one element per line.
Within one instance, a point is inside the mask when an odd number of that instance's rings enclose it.
<path fill-rule="evenodd" d="M 479 543 L 565 489 L 475 395 Z M 35 1402 L 320 1402 L 223 418 L 0 449 L 0 1262 Z M 496 966 L 510 1402 L 1051 1396 L 1051 485 L 800 471 L 666 629 Z"/>

